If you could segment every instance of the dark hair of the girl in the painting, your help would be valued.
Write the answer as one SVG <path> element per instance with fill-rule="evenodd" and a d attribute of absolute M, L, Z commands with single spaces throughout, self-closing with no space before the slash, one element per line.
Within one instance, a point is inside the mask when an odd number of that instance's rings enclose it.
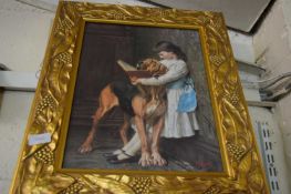
<path fill-rule="evenodd" d="M 162 52 L 162 51 L 166 51 L 166 52 L 173 52 L 177 55 L 178 59 L 184 60 L 185 62 L 187 61 L 187 57 L 186 54 L 180 50 L 180 48 L 169 41 L 159 41 L 155 48 L 154 48 L 155 52 Z"/>

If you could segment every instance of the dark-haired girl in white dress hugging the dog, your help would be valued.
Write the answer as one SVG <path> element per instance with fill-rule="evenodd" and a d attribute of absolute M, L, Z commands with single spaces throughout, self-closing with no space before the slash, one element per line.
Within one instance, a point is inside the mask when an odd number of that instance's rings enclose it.
<path fill-rule="evenodd" d="M 158 78 L 133 79 L 134 84 L 144 85 L 166 85 L 167 91 L 167 111 L 164 119 L 164 130 L 160 136 L 164 137 L 187 137 L 195 135 L 195 131 L 199 130 L 195 112 L 177 111 L 179 98 L 185 91 L 185 83 L 188 79 L 187 58 L 185 53 L 176 44 L 168 41 L 160 41 L 156 44 L 155 51 L 160 58 L 160 63 L 167 67 L 168 71 Z M 110 161 L 112 163 L 128 162 L 141 150 L 141 141 L 135 134 L 132 140 L 122 149 L 116 151 L 117 160 Z M 162 160 L 156 165 L 165 165 Z"/>

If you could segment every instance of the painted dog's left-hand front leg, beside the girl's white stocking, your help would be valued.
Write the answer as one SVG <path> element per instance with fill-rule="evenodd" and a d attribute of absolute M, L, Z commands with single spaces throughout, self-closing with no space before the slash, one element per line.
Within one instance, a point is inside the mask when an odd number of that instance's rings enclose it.
<path fill-rule="evenodd" d="M 148 143 L 147 143 L 147 136 L 146 136 L 146 130 L 145 130 L 145 105 L 146 101 L 142 96 L 135 96 L 133 99 L 133 109 L 135 112 L 134 121 L 137 129 L 138 136 L 141 139 L 142 143 L 142 156 L 138 162 L 142 166 L 148 166 L 152 164 L 152 159 L 149 154 Z"/>

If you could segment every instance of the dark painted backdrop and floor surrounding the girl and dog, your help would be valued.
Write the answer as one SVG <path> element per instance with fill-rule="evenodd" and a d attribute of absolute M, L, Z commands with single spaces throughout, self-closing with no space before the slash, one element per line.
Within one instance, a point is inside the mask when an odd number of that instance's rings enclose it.
<path fill-rule="evenodd" d="M 138 160 L 134 159 L 112 164 L 104 154 L 123 147 L 119 129 L 123 125 L 124 115 L 123 110 L 115 106 L 98 123 L 93 150 L 83 154 L 77 152 L 92 127 L 93 116 L 100 106 L 98 96 L 102 89 L 112 82 L 125 82 L 128 79 L 117 61 L 123 60 L 136 67 L 139 61 L 148 58 L 160 60 L 158 53 L 153 51 L 155 44 L 160 41 L 173 42 L 187 55 L 187 67 L 195 83 L 198 101 L 197 109 L 187 114 L 196 114 L 199 130 L 193 129 L 195 131 L 193 134 L 184 135 L 180 133 L 187 132 L 183 132 L 184 129 L 181 129 L 178 132 L 168 132 L 178 133 L 177 135 L 165 134 L 164 136 L 162 131 L 159 149 L 168 162 L 165 166 L 143 167 L 138 165 Z M 221 172 L 220 151 L 208 91 L 204 54 L 197 30 L 87 23 L 83 38 L 63 167 Z M 126 93 L 126 91 L 124 92 Z M 184 122 L 183 118 L 177 120 Z M 169 125 L 175 125 L 170 121 L 167 122 Z M 176 125 L 167 127 L 177 131 Z M 128 139 L 131 140 L 134 134 L 135 131 L 131 129 L 127 134 Z M 141 153 L 137 152 L 136 155 L 141 155 Z"/>

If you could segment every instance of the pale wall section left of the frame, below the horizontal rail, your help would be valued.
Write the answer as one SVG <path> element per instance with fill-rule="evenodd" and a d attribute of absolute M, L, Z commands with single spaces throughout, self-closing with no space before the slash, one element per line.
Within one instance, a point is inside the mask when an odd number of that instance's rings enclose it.
<path fill-rule="evenodd" d="M 28 114 L 33 100 L 32 92 L 6 91 L 0 102 L 0 191 L 8 193 L 17 164 Z"/>

